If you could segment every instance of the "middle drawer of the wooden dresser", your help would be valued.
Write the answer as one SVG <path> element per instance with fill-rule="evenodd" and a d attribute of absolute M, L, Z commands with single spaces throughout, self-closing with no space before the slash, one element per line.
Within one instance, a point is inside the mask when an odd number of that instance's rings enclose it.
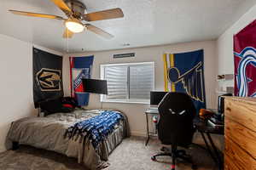
<path fill-rule="evenodd" d="M 226 117 L 224 135 L 226 139 L 232 139 L 241 149 L 247 150 L 247 153 L 256 159 L 256 132 Z"/>

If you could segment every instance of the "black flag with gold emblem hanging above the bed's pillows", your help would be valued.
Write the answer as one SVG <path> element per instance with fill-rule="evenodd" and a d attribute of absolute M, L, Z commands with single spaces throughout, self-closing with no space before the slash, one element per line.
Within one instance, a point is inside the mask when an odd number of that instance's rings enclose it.
<path fill-rule="evenodd" d="M 63 96 L 62 57 L 33 48 L 33 99 L 35 108 L 46 99 Z"/>

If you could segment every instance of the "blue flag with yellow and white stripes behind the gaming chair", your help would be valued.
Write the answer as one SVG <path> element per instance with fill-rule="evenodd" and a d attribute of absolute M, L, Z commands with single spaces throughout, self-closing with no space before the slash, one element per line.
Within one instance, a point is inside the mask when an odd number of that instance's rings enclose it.
<path fill-rule="evenodd" d="M 204 51 L 164 54 L 163 59 L 165 90 L 189 94 L 197 111 L 206 108 Z"/>

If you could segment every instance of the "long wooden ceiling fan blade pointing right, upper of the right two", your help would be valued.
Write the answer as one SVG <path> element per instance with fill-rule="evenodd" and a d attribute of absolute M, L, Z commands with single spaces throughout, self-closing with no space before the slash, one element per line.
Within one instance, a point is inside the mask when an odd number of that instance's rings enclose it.
<path fill-rule="evenodd" d="M 112 8 L 108 10 L 83 15 L 83 18 L 86 21 L 109 20 L 122 17 L 124 17 L 124 13 L 121 8 Z"/>

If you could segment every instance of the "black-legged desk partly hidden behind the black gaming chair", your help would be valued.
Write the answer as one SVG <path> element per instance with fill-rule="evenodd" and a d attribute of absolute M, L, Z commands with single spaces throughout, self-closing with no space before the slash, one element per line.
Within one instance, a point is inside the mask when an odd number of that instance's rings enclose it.
<path fill-rule="evenodd" d="M 148 116 L 149 115 L 157 116 L 157 115 L 159 115 L 159 112 L 157 110 L 149 110 L 149 109 L 147 111 L 145 111 L 145 116 L 146 116 L 146 120 L 147 120 L 147 137 L 148 137 L 146 140 L 146 143 L 145 143 L 146 146 L 148 144 L 150 136 L 152 134 L 156 134 L 156 133 L 149 132 L 149 130 L 148 130 Z M 207 146 L 207 150 L 208 150 L 210 156 L 212 156 L 213 161 L 218 165 L 218 169 L 219 170 L 223 169 L 223 161 L 221 159 L 221 156 L 219 156 L 218 149 L 216 148 L 215 144 L 212 141 L 211 134 L 224 135 L 224 127 L 212 127 L 207 124 L 207 121 L 202 120 L 199 117 L 195 117 L 194 126 L 195 126 L 195 130 L 198 131 L 199 133 L 201 133 L 201 137 L 202 137 L 202 139 L 204 139 L 204 142 Z M 211 147 L 210 147 L 209 143 L 211 144 Z M 212 153 L 212 150 L 213 150 L 214 154 Z"/>

